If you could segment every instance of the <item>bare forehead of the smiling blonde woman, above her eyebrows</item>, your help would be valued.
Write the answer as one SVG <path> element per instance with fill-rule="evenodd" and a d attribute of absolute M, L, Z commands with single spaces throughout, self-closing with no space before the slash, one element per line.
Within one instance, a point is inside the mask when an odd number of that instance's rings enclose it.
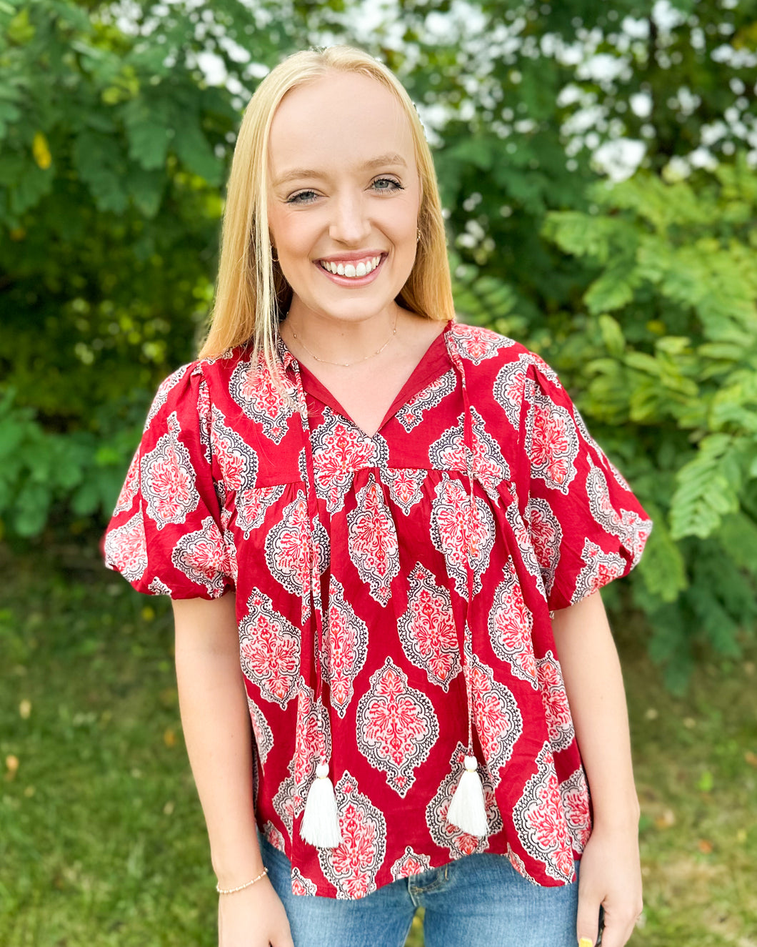
<path fill-rule="evenodd" d="M 389 89 L 360 73 L 329 73 L 292 89 L 273 116 L 273 177 L 290 168 L 346 170 L 390 152 L 414 167 L 410 122 Z"/>

